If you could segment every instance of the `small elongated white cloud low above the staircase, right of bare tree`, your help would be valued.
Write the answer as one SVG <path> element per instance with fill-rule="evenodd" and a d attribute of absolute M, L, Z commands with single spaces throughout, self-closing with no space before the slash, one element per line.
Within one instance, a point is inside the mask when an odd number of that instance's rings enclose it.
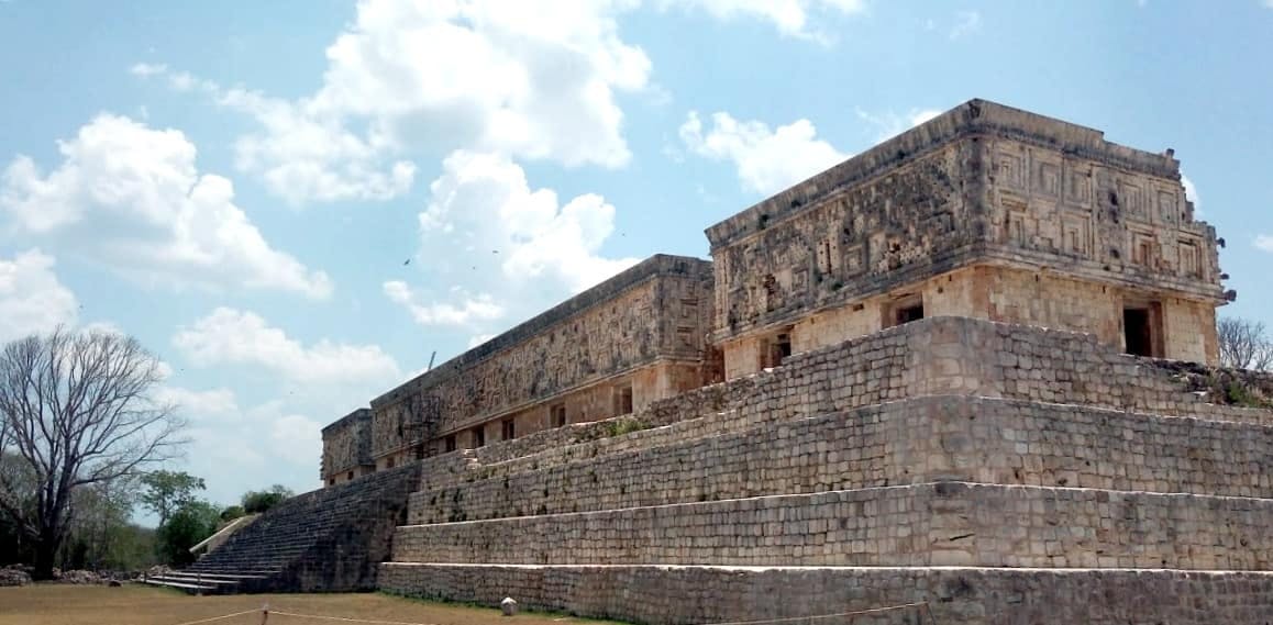
<path fill-rule="evenodd" d="M 261 316 L 227 307 L 179 328 L 173 345 L 200 367 L 251 364 L 297 384 L 392 383 L 401 378 L 397 363 L 377 345 L 321 340 L 306 346 Z"/>

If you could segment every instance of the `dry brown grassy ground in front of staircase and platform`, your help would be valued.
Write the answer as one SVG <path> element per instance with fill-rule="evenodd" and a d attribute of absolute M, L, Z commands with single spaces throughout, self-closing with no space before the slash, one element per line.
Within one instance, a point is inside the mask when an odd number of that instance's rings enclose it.
<path fill-rule="evenodd" d="M 36 584 L 0 588 L 0 625 L 178 625 L 252 610 L 253 612 L 206 621 L 211 625 L 260 625 L 261 607 L 269 603 L 269 625 L 334 625 L 358 620 L 426 625 L 565 625 L 582 619 L 523 612 L 505 619 L 499 610 L 433 603 L 362 594 L 230 594 L 191 597 L 162 588 L 129 584 Z M 280 612 L 326 616 L 303 619 Z M 331 619 L 340 617 L 340 619 Z M 345 621 L 351 619 L 354 621 Z"/>

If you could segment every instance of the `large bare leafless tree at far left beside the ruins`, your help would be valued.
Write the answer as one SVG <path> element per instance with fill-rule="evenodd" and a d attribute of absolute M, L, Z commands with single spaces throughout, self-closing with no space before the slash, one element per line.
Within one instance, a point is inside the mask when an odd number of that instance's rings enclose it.
<path fill-rule="evenodd" d="M 36 577 L 52 577 L 76 489 L 134 475 L 172 457 L 182 421 L 157 401 L 159 360 L 136 339 L 73 332 L 10 342 L 0 354 L 0 513 L 34 545 Z M 24 486 L 25 485 L 25 486 Z"/>

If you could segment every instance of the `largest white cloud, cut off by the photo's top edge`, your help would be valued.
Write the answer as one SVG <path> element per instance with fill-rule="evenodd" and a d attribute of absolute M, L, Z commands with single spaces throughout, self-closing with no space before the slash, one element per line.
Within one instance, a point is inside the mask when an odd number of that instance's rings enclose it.
<path fill-rule="evenodd" d="M 616 93 L 645 89 L 651 74 L 619 37 L 615 15 L 633 5 L 363 0 L 327 48 L 322 85 L 295 101 L 162 65 L 132 73 L 255 117 L 238 164 L 292 202 L 387 199 L 410 187 L 415 168 L 400 157 L 420 144 L 624 165 Z"/>

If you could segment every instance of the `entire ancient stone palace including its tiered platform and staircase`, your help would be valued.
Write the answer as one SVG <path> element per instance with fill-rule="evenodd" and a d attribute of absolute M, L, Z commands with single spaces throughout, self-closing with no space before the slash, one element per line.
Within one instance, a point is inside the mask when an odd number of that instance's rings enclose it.
<path fill-rule="evenodd" d="M 334 423 L 328 486 L 181 583 L 1269 624 L 1273 376 L 1213 368 L 1170 150 L 971 101 L 707 234 Z"/>

